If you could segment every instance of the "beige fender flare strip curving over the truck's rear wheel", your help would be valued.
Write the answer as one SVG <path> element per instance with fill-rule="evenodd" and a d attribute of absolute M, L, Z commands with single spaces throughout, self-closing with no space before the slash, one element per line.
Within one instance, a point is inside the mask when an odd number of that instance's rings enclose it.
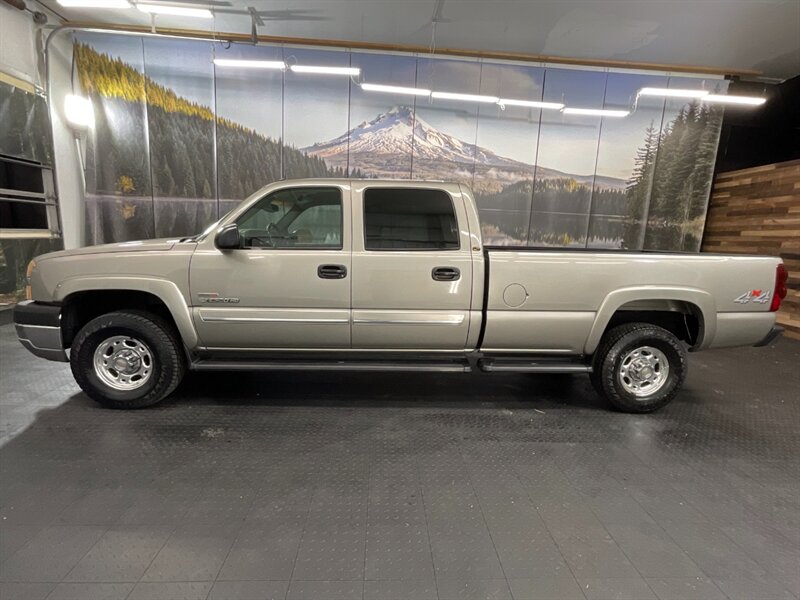
<path fill-rule="evenodd" d="M 639 300 L 677 300 L 694 304 L 700 311 L 700 332 L 695 348 L 700 350 L 714 339 L 717 329 L 717 305 L 703 290 L 688 287 L 635 286 L 614 290 L 603 300 L 584 346 L 584 354 L 593 354 L 600 344 L 611 317 L 622 306 Z"/>

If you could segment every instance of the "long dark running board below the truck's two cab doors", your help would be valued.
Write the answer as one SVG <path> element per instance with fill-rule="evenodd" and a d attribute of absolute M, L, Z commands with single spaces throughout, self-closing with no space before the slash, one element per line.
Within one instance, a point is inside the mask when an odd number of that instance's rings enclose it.
<path fill-rule="evenodd" d="M 212 360 L 191 363 L 193 371 L 422 371 L 435 373 L 470 373 L 467 361 L 289 361 L 289 360 Z"/>

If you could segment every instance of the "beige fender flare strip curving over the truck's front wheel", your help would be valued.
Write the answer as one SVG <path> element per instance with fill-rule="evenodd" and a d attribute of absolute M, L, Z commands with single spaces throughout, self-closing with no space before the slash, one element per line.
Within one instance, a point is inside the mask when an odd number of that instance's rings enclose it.
<path fill-rule="evenodd" d="M 178 332 L 181 334 L 184 345 L 195 348 L 198 344 L 197 332 L 192 323 L 192 315 L 186 300 L 178 286 L 168 279 L 158 277 L 126 277 L 126 276 L 98 276 L 72 277 L 56 285 L 53 293 L 54 302 L 63 302 L 64 299 L 76 292 L 92 290 L 131 290 L 147 292 L 159 298 L 167 307 Z"/>

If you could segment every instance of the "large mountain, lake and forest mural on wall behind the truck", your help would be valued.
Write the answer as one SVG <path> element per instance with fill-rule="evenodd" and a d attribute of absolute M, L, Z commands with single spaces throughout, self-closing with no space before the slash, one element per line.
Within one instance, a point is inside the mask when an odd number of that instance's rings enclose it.
<path fill-rule="evenodd" d="M 214 57 L 357 66 L 362 80 L 636 109 L 624 119 L 364 91 Z M 80 34 L 90 243 L 190 235 L 282 177 L 473 187 L 488 244 L 697 251 L 721 110 L 640 98 L 726 82 L 390 54 Z"/>

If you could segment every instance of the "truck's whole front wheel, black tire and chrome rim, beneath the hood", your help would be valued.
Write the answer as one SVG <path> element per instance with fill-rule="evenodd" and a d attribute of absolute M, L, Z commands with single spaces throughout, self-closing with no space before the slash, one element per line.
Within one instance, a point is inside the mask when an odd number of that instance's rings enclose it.
<path fill-rule="evenodd" d="M 109 408 L 144 408 L 178 387 L 183 350 L 172 327 L 144 311 L 112 312 L 89 321 L 70 351 L 75 381 Z"/>

